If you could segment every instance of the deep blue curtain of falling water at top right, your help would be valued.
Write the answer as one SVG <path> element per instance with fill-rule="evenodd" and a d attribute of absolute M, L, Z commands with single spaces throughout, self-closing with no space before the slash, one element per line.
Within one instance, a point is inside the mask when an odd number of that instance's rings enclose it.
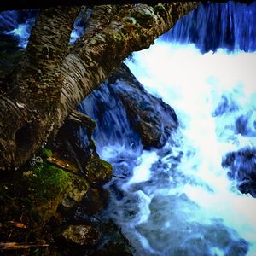
<path fill-rule="evenodd" d="M 196 44 L 202 53 L 218 48 L 256 49 L 256 3 L 203 3 L 178 20 L 162 38 L 181 44 Z"/>

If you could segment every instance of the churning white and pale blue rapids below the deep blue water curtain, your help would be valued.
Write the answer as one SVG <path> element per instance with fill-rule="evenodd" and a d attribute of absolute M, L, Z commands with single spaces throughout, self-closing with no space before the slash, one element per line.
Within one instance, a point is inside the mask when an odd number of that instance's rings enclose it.
<path fill-rule="evenodd" d="M 143 244 L 143 236 L 148 254 L 254 255 L 256 201 L 237 185 L 255 177 L 255 53 L 218 49 L 201 55 L 193 44 L 157 40 L 127 64 L 148 90 L 175 109 L 180 144 L 162 148 L 171 151 L 167 155 L 154 151 L 157 160 L 148 163 L 147 181 L 131 178 L 121 187 L 148 212 L 128 222 L 120 219 L 122 210 L 116 219 L 131 239 L 126 222 L 134 226 L 135 242 Z M 226 156 L 237 150 L 244 155 L 248 150 L 251 159 Z M 233 170 L 223 168 L 232 165 Z M 232 178 L 228 172 L 234 170 Z"/>

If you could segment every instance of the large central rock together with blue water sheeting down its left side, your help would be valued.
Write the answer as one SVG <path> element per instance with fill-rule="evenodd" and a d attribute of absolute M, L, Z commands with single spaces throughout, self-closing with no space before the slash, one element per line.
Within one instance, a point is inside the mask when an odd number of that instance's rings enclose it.
<path fill-rule="evenodd" d="M 122 64 L 79 105 L 82 113 L 96 121 L 97 144 L 120 143 L 126 148 L 162 148 L 178 120 L 174 110 L 151 95 Z M 82 132 L 84 139 L 86 132 Z"/>

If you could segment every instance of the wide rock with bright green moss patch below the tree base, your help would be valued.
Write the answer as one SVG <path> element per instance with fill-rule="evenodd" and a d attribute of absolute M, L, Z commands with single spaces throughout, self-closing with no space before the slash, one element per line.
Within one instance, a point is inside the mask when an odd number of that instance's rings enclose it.
<path fill-rule="evenodd" d="M 55 215 L 57 207 L 65 197 L 79 202 L 89 189 L 83 177 L 63 171 L 56 166 L 43 163 L 30 171 L 23 172 L 26 196 L 23 199 L 30 207 L 32 217 L 46 221 Z M 74 205 L 74 204 L 73 204 Z"/>

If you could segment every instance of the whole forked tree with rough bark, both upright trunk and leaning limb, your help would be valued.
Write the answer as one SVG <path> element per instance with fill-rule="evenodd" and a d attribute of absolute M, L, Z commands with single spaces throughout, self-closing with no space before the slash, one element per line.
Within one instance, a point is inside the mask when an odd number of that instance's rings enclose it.
<path fill-rule="evenodd" d="M 0 96 L 0 169 L 25 163 L 125 57 L 154 44 L 196 4 L 96 7 L 69 54 L 68 39 L 79 8 L 42 11 L 26 55 Z"/>

